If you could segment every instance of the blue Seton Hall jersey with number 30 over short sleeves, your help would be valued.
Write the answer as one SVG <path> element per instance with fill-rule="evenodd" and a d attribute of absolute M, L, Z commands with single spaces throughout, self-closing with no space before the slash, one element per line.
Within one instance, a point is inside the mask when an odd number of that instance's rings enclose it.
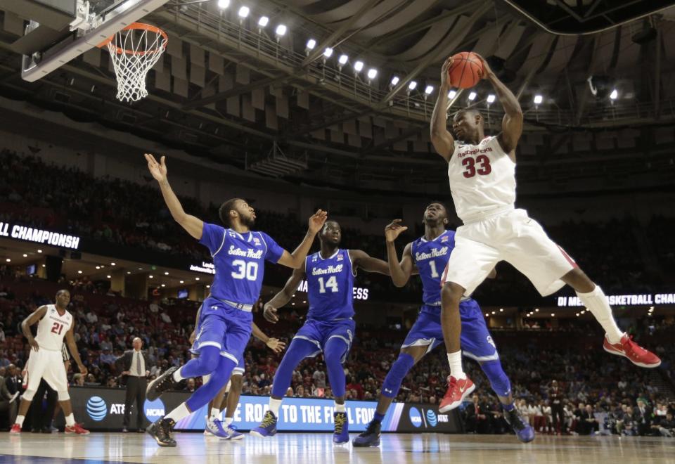
<path fill-rule="evenodd" d="M 214 298 L 254 304 L 260 296 L 265 260 L 276 263 L 283 248 L 262 232 L 240 234 L 204 223 L 199 243 L 208 247 L 216 269 L 211 285 Z"/>

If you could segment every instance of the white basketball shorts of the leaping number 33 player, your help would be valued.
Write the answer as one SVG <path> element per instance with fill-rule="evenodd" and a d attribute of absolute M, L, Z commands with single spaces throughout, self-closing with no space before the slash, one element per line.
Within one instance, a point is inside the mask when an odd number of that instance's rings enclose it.
<path fill-rule="evenodd" d="M 457 283 L 471 295 L 500 261 L 524 273 L 542 296 L 563 288 L 560 278 L 577 267 L 527 211 L 509 210 L 457 228 L 441 283 Z"/>

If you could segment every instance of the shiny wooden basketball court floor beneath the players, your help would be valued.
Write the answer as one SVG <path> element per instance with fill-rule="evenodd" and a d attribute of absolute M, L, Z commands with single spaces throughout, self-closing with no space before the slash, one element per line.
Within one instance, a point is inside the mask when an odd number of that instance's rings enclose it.
<path fill-rule="evenodd" d="M 176 448 L 160 448 L 136 433 L 2 433 L 0 463 L 675 463 L 675 439 L 650 437 L 539 436 L 525 445 L 510 435 L 383 434 L 380 448 L 366 449 L 333 446 L 330 434 L 247 435 L 240 442 L 224 442 L 178 433 L 176 441 Z"/>

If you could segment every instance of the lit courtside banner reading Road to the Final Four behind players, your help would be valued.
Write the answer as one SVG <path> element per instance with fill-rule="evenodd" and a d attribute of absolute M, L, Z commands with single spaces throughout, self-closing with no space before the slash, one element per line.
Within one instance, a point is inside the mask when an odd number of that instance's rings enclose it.
<path fill-rule="evenodd" d="M 77 422 L 89 430 L 121 430 L 124 419 L 123 388 L 71 387 L 70 398 Z M 155 422 L 188 399 L 187 392 L 167 392 L 160 399 L 143 404 L 143 426 Z M 234 414 L 239 430 L 251 430 L 261 422 L 269 397 L 242 395 Z M 350 432 L 363 432 L 375 414 L 375 401 L 347 401 Z M 176 430 L 202 431 L 207 406 L 176 423 Z M 284 398 L 279 409 L 277 429 L 282 432 L 332 432 L 335 404 L 330 399 Z M 131 427 L 136 425 L 136 408 L 131 409 Z M 63 425 L 63 418 L 60 424 Z M 429 404 L 394 403 L 382 423 L 383 432 L 461 433 L 463 426 L 457 410 L 440 414 Z"/>

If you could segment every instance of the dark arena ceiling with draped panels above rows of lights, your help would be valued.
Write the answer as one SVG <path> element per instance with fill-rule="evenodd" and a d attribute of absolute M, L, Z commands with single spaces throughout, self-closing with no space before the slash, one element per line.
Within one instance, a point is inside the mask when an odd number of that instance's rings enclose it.
<path fill-rule="evenodd" d="M 92 2 L 97 11 L 116 3 Z M 675 1 L 229 3 L 170 0 L 144 18 L 169 33 L 169 48 L 148 76 L 150 96 L 133 105 L 115 100 L 110 60 L 99 49 L 24 82 L 12 46 L 23 20 L 4 13 L 0 92 L 266 176 L 428 191 L 444 188 L 428 131 L 439 65 L 473 50 L 520 96 L 527 122 L 520 179 L 553 176 L 559 187 L 578 176 L 638 173 L 671 183 Z M 250 7 L 245 18 L 241 6 Z M 371 69 L 377 75 L 368 79 Z M 487 105 L 490 93 L 483 83 L 473 100 L 460 91 L 451 110 L 475 105 L 499 131 L 501 108 Z"/>

